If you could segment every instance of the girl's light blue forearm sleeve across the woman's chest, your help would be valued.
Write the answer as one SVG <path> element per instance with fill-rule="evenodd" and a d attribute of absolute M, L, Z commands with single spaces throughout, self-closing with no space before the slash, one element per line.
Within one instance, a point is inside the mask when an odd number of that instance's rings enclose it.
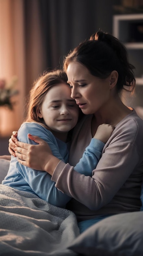
<path fill-rule="evenodd" d="M 74 170 L 85 176 L 92 176 L 92 171 L 96 168 L 100 160 L 104 145 L 99 139 L 91 139 L 89 146 L 85 148 L 85 152 L 78 164 L 74 167 Z"/>

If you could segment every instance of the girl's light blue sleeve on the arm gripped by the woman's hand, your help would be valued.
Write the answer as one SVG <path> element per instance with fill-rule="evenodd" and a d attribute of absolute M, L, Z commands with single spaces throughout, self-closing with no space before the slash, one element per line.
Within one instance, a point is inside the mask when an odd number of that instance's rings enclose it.
<path fill-rule="evenodd" d="M 18 132 L 18 140 L 29 144 L 36 144 L 34 141 L 28 138 L 28 133 L 37 135 L 44 139 L 50 146 L 52 153 L 64 161 L 63 157 L 59 153 L 57 141 L 52 135 L 52 132 L 43 128 L 39 124 L 30 123 L 23 124 Z M 38 156 L 37 156 L 38 157 Z M 21 173 L 24 180 L 29 184 L 32 191 L 34 191 L 39 198 L 49 202 L 58 207 L 65 207 L 65 204 L 71 199 L 66 194 L 63 194 L 55 187 L 55 182 L 51 180 L 51 175 L 44 171 L 36 171 L 28 168 L 20 163 L 17 170 Z"/>

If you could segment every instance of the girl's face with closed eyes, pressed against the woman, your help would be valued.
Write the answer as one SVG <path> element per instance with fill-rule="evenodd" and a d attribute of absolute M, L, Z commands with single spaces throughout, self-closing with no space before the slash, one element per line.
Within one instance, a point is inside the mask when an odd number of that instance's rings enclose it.
<path fill-rule="evenodd" d="M 68 132 L 78 121 L 79 108 L 71 98 L 71 89 L 61 83 L 51 87 L 41 105 L 39 117 L 55 132 Z"/>

